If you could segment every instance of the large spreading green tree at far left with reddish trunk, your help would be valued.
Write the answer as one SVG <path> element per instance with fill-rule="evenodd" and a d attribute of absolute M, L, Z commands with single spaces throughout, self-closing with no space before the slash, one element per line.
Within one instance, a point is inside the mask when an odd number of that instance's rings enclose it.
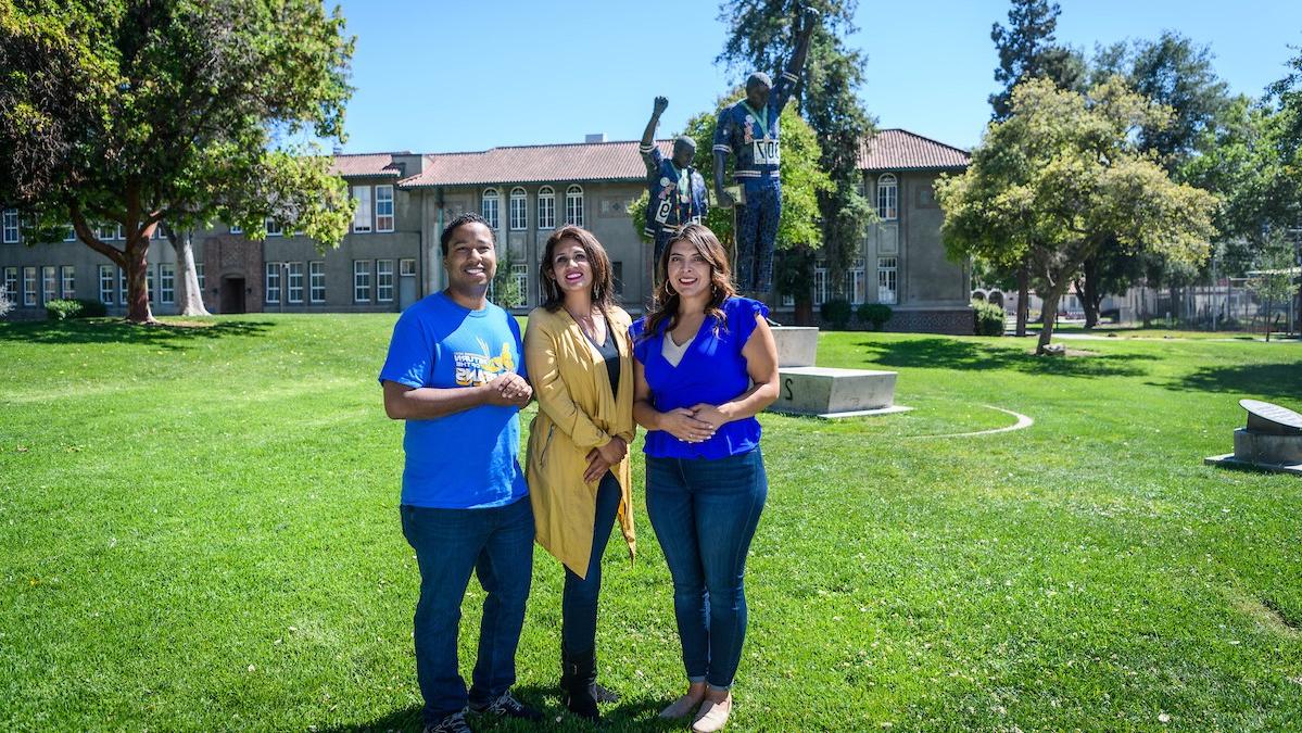
<path fill-rule="evenodd" d="M 154 322 L 146 256 L 164 221 L 259 237 L 270 219 L 337 245 L 344 182 L 285 141 L 342 141 L 342 31 L 311 0 L 0 0 L 0 201 L 25 212 L 29 241 L 70 221 L 121 267 L 135 323 Z M 98 237 L 105 223 L 121 249 Z"/>

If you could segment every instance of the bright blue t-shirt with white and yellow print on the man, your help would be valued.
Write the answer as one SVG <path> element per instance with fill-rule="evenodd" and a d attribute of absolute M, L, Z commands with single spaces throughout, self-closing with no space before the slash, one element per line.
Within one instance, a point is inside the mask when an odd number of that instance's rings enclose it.
<path fill-rule="evenodd" d="M 519 324 L 503 309 L 458 306 L 443 293 L 402 311 L 380 381 L 411 388 L 477 387 L 525 375 Z M 519 469 L 519 410 L 482 405 L 406 421 L 402 504 L 436 509 L 503 506 L 529 495 Z"/>

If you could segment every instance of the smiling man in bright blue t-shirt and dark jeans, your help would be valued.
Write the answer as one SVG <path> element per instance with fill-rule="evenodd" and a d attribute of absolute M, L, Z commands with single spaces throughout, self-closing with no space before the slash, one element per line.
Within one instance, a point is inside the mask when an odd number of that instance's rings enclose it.
<path fill-rule="evenodd" d="M 534 512 L 517 460 L 519 409 L 533 389 L 519 325 L 487 299 L 492 228 L 464 214 L 440 243 L 448 289 L 398 318 L 380 384 L 385 414 L 406 421 L 401 514 L 421 568 L 414 635 L 426 730 L 467 733 L 467 704 L 542 720 L 510 694 L 534 565 Z M 487 595 L 467 693 L 457 631 L 471 570 Z"/>

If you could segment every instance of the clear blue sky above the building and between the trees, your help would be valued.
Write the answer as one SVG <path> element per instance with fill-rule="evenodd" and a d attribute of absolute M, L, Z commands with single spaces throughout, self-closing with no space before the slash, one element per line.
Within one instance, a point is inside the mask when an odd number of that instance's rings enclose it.
<path fill-rule="evenodd" d="M 1062 43 L 1092 53 L 1096 43 L 1172 29 L 1211 46 L 1220 77 L 1254 96 L 1284 76 L 1289 46 L 1302 46 L 1298 1 L 1059 3 Z M 357 35 L 348 152 L 582 142 L 587 133 L 635 139 L 658 94 L 669 98 L 659 130 L 668 137 L 746 73 L 713 62 L 725 29 L 711 0 L 341 5 Z M 849 43 L 867 52 L 861 96 L 879 125 L 976 145 L 995 90 L 990 29 L 1008 7 L 861 0 Z"/>

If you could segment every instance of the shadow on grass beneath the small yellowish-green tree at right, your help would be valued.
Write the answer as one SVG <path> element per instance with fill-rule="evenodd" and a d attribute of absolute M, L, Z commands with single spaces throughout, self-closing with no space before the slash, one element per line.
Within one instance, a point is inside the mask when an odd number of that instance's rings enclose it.
<path fill-rule="evenodd" d="M 879 366 L 963 371 L 1006 368 L 1056 376 L 1142 376 L 1148 374 L 1148 370 L 1139 362 L 1159 358 L 1151 354 L 1036 357 L 1017 348 L 957 339 L 863 341 L 859 346 L 867 350 L 866 361 Z"/>

